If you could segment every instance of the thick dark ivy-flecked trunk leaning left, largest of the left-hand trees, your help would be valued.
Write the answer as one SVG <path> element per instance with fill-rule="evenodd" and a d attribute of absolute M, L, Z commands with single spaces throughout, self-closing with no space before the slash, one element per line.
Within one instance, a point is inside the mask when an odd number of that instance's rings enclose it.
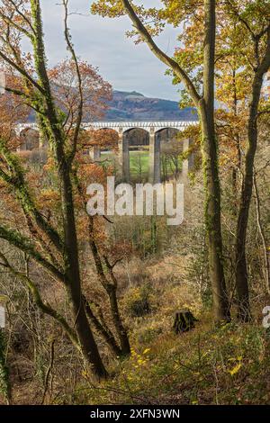
<path fill-rule="evenodd" d="M 102 378 L 106 377 L 107 372 L 103 366 L 101 356 L 94 341 L 93 332 L 85 314 L 85 305 L 81 293 L 76 221 L 70 178 L 72 159 L 69 159 L 69 157 L 67 159 L 64 149 L 65 135 L 62 133 L 62 124 L 59 121 L 53 96 L 50 91 L 42 34 L 40 0 L 31 0 L 31 19 L 35 30 L 35 37 L 31 40 L 35 70 L 39 77 L 40 85 L 45 93 L 41 93 L 41 101 L 45 103 L 44 110 L 46 110 L 46 114 L 41 116 L 41 120 L 45 120 L 44 124 L 46 125 L 46 129 L 52 139 L 61 186 L 61 205 L 64 229 L 63 257 L 65 262 L 65 283 L 67 287 L 67 294 L 73 311 L 76 335 L 80 342 L 82 354 L 85 358 L 85 365 L 91 367 L 94 374 Z"/>

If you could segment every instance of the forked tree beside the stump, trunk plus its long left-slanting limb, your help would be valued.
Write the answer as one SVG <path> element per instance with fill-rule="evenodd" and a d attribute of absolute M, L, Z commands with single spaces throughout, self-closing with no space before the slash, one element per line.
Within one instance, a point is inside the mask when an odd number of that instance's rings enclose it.
<path fill-rule="evenodd" d="M 229 320 L 229 300 L 226 291 L 222 263 L 222 236 L 220 224 L 220 180 L 217 139 L 214 128 L 214 55 L 216 33 L 215 0 L 204 0 L 204 52 L 203 52 L 203 95 L 200 95 L 192 79 L 183 67 L 157 47 L 147 28 L 139 20 L 129 0 L 121 0 L 134 27 L 157 58 L 172 69 L 184 82 L 186 91 L 198 107 L 202 125 L 202 158 L 205 175 L 205 219 L 208 232 L 210 277 L 213 296 L 214 320 Z"/>

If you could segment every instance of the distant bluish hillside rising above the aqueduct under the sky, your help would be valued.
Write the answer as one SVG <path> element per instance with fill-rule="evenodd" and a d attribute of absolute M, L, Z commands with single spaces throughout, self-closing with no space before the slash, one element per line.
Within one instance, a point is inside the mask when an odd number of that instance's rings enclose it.
<path fill-rule="evenodd" d="M 132 91 L 113 91 L 110 109 L 103 118 L 107 121 L 195 121 L 192 107 L 180 110 L 177 102 L 145 97 Z"/>

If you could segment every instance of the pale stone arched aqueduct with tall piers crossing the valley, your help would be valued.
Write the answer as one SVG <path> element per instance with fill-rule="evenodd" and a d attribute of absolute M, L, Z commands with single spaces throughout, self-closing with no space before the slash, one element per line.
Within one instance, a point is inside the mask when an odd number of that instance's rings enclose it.
<path fill-rule="evenodd" d="M 139 129 L 145 130 L 148 133 L 148 145 L 149 145 L 149 173 L 148 180 L 151 183 L 160 182 L 161 178 L 161 166 L 160 166 L 160 134 L 163 130 L 179 130 L 183 131 L 188 126 L 196 125 L 197 121 L 97 121 L 91 123 L 83 123 L 82 128 L 84 130 L 115 130 L 119 135 L 119 164 L 121 169 L 121 179 L 128 181 L 130 177 L 130 142 L 129 132 L 130 130 Z M 23 132 L 27 130 L 35 130 L 38 132 L 38 126 L 35 123 L 22 123 L 17 125 L 16 133 L 17 136 L 22 136 Z M 190 140 L 184 139 L 183 151 L 189 148 Z M 33 149 L 41 148 L 40 140 L 37 144 L 31 148 L 27 147 L 26 144 L 22 144 L 20 149 Z M 98 160 L 101 157 L 100 148 L 94 147 L 89 151 L 90 156 L 94 160 Z M 193 157 L 189 157 L 184 160 L 182 173 L 183 176 L 187 174 L 189 168 L 193 164 Z"/>

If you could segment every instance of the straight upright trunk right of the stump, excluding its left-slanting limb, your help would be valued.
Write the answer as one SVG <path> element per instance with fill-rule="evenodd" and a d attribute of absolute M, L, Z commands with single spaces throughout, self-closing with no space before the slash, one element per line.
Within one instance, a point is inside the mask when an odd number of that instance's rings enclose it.
<path fill-rule="evenodd" d="M 216 321 L 229 320 L 229 300 L 222 262 L 220 179 L 214 124 L 215 0 L 205 0 L 203 98 L 199 104 L 202 122 L 202 160 L 205 184 L 205 223 L 209 248 L 209 269 Z"/>

